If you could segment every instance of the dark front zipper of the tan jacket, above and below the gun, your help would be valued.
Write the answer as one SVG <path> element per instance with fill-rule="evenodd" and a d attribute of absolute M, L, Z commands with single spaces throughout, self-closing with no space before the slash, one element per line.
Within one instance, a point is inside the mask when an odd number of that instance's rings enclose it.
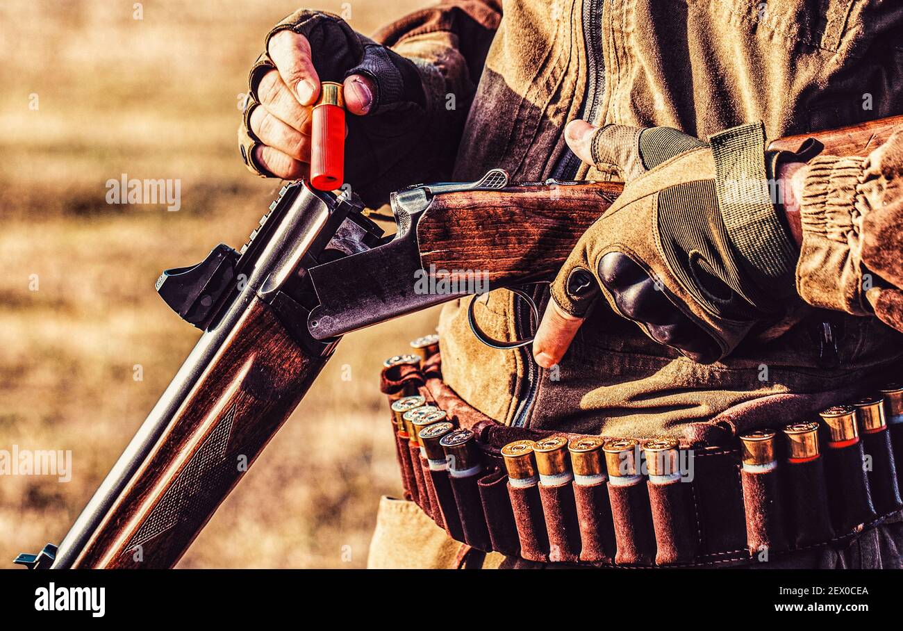
<path fill-rule="evenodd" d="M 583 0 L 583 44 L 586 49 L 586 99 L 583 101 L 580 118 L 583 120 L 595 120 L 599 114 L 601 97 L 605 91 L 605 73 L 602 72 L 600 61 L 602 9 L 604 0 Z M 552 177 L 560 181 L 573 180 L 580 168 L 580 158 L 573 154 L 571 149 L 565 149 L 564 155 L 559 159 L 552 171 Z M 538 287 L 538 286 L 537 286 Z M 539 293 L 539 292 L 537 292 Z M 545 289 L 543 290 L 545 292 Z M 538 304 L 538 301 L 537 301 Z M 518 339 L 528 334 L 533 334 L 533 325 L 528 310 L 524 308 L 523 301 L 515 300 L 515 331 Z M 538 325 L 538 323 L 536 323 Z M 543 371 L 533 361 L 533 353 L 529 346 L 517 349 L 521 354 L 521 362 L 526 366 L 525 389 L 526 393 L 517 404 L 514 419 L 511 425 L 517 428 L 526 427 L 526 421 L 530 418 L 535 403 L 536 391 L 539 390 L 539 378 Z M 522 389 L 523 391 L 523 389 Z"/>

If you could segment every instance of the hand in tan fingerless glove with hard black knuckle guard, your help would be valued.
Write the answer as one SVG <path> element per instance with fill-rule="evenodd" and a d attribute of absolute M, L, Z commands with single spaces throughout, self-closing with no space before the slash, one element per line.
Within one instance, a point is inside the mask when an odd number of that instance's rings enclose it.
<path fill-rule="evenodd" d="M 767 165 L 764 137 L 749 126 L 713 137 L 714 152 L 665 127 L 597 128 L 578 120 L 565 138 L 584 162 L 614 165 L 626 185 L 555 279 L 534 341 L 539 365 L 561 361 L 600 292 L 649 337 L 701 363 L 730 353 L 753 325 L 776 317 L 793 293 L 797 171 L 805 167 L 777 159 Z M 731 154 L 738 138 L 746 147 L 758 141 L 759 153 Z M 733 163 L 746 170 L 731 171 Z M 768 183 L 757 181 L 775 177 L 769 168 L 787 177 L 786 219 L 777 216 Z M 781 192 L 780 184 L 772 191 Z M 756 213 L 760 230 L 744 221 Z"/>

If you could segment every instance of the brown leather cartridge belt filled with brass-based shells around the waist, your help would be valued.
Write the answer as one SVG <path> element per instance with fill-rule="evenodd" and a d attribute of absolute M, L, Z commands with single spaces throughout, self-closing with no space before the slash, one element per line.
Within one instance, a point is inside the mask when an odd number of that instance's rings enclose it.
<path fill-rule="evenodd" d="M 691 448 L 500 425 L 442 382 L 438 341 L 417 351 L 381 379 L 405 497 L 481 551 L 725 567 L 842 544 L 903 508 L 903 386 Z"/>

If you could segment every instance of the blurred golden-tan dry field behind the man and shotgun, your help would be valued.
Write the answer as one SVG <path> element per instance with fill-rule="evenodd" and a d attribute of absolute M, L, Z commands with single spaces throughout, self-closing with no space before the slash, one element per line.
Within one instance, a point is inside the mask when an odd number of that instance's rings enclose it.
<path fill-rule="evenodd" d="M 240 162 L 238 102 L 297 2 L 147 1 L 141 20 L 131 0 L 0 4 L 0 449 L 73 459 L 66 484 L 0 477 L 0 567 L 61 542 L 197 339 L 155 295 L 159 272 L 240 246 L 275 196 Z M 317 8 L 371 33 L 424 4 Z M 107 205 L 120 174 L 181 179 L 182 210 Z M 363 567 L 378 498 L 400 489 L 379 363 L 434 322 L 348 335 L 180 567 Z"/>

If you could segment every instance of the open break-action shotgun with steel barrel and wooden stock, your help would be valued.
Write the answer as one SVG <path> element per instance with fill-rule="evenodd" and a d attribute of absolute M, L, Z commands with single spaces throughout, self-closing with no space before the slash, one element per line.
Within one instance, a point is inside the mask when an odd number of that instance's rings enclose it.
<path fill-rule="evenodd" d="M 866 155 L 903 117 L 818 134 Z M 773 148 L 796 148 L 790 137 Z M 284 186 L 240 251 L 164 271 L 163 300 L 200 340 L 59 549 L 32 568 L 170 568 L 292 413 L 340 336 L 427 306 L 554 277 L 620 184 L 419 184 L 385 236 L 353 193 Z M 471 282 L 479 273 L 481 282 Z M 441 277 L 441 278 L 440 278 Z M 239 466 L 247 464 L 247 466 Z"/>

